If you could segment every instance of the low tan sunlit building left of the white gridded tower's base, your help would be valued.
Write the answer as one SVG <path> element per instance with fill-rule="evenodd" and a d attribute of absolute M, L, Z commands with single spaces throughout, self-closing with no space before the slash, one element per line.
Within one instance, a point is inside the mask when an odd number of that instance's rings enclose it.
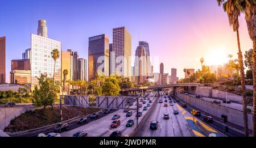
<path fill-rule="evenodd" d="M 10 71 L 11 84 L 31 84 L 30 70 L 12 70 Z"/>

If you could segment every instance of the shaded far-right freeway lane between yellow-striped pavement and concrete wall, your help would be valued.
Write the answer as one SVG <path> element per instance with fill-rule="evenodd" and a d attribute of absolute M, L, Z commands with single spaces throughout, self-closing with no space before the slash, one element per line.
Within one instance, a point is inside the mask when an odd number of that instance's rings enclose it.
<path fill-rule="evenodd" d="M 179 99 L 180 100 L 180 99 Z M 180 106 L 182 106 L 181 102 L 182 103 L 185 103 L 183 102 L 183 100 L 180 100 L 180 102 L 176 102 L 176 100 L 174 99 L 175 103 L 179 104 Z M 185 103 L 187 104 L 187 103 Z M 197 111 L 200 111 L 201 112 L 201 116 L 200 117 L 197 117 L 198 119 L 200 119 L 201 121 L 203 121 L 205 124 L 209 125 L 209 126 L 212 126 L 214 129 L 220 131 L 220 132 L 223 132 L 223 129 L 224 129 L 224 126 L 222 125 L 222 123 L 220 122 L 216 122 L 217 120 L 217 117 L 213 117 L 213 122 L 210 123 L 210 122 L 206 122 L 204 121 L 204 116 L 208 115 L 208 116 L 211 116 L 209 115 L 208 113 L 205 113 L 203 111 L 201 111 L 200 109 L 198 108 L 195 108 L 193 107 L 192 105 L 189 105 L 187 104 L 187 107 L 184 108 L 185 110 L 187 110 L 188 112 L 191 112 L 193 109 L 197 110 Z M 243 134 L 241 134 L 240 132 L 237 132 L 236 130 L 233 130 L 231 128 L 229 128 L 229 132 L 226 133 L 226 136 L 230 136 L 230 137 L 242 137 L 244 136 Z"/>

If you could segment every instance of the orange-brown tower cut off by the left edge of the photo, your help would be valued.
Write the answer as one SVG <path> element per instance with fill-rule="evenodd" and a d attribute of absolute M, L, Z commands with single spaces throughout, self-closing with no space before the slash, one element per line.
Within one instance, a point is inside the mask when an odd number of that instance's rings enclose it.
<path fill-rule="evenodd" d="M 0 84 L 5 83 L 6 37 L 0 37 Z"/>

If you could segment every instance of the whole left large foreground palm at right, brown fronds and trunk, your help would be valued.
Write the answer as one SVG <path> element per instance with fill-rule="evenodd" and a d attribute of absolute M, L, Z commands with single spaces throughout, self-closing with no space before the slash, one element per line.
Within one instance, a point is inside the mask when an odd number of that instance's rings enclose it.
<path fill-rule="evenodd" d="M 217 0 L 218 6 L 223 6 L 224 11 L 228 14 L 229 25 L 233 27 L 233 31 L 237 33 L 237 45 L 238 45 L 238 62 L 240 65 L 241 74 L 241 91 L 242 91 L 242 104 L 243 104 L 243 122 L 244 122 L 244 132 L 245 136 L 249 136 L 248 133 L 248 118 L 247 118 L 247 104 L 246 104 L 246 91 L 245 91 L 245 67 L 243 66 L 243 56 L 240 47 L 240 37 L 239 37 L 239 21 L 238 16 L 240 16 L 241 1 L 240 0 Z M 229 55 L 230 58 L 232 56 Z"/>

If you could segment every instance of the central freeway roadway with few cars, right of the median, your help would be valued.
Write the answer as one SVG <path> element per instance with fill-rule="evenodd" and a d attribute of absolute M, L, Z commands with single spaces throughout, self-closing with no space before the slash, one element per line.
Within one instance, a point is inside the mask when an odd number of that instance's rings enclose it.
<path fill-rule="evenodd" d="M 163 101 L 166 99 L 168 101 L 168 107 L 164 107 L 164 103 L 157 103 L 154 112 L 150 119 L 147 121 L 145 126 L 143 126 L 142 137 L 190 137 L 191 133 L 187 127 L 187 122 L 185 121 L 183 115 L 174 115 L 174 110 L 177 110 L 176 104 L 170 105 L 169 100 L 166 96 L 160 96 Z M 164 120 L 163 114 L 168 113 L 170 119 Z M 158 129 L 151 130 L 150 122 L 157 120 L 159 122 Z"/>

